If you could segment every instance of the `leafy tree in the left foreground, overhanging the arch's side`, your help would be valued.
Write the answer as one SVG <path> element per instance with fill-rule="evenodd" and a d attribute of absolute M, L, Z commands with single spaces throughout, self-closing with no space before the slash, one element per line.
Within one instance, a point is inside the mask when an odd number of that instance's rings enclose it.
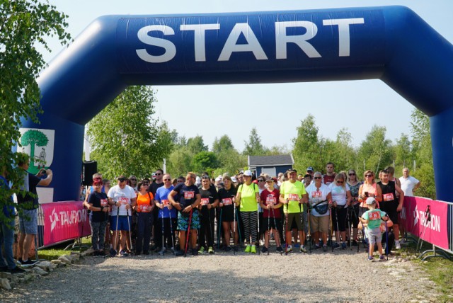
<path fill-rule="evenodd" d="M 45 66 L 38 46 L 49 50 L 46 38 L 56 35 L 62 45 L 69 42 L 65 32 L 67 16 L 47 1 L 9 0 L 0 4 L 0 170 L 6 169 L 8 180 L 21 183 L 21 176 L 13 168 L 18 154 L 13 146 L 20 142 L 21 117 L 38 123 L 40 89 L 36 78 Z M 0 188 L 0 198 L 7 201 L 17 188 Z M 0 212 L 0 221 L 6 219 Z"/>

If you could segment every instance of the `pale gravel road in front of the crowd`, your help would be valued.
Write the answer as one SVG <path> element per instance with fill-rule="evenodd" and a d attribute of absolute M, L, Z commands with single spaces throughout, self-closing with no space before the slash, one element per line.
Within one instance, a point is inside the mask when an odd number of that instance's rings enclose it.
<path fill-rule="evenodd" d="M 366 256 L 346 250 L 86 257 L 1 291 L 0 301 L 435 302 L 434 283 L 414 263 L 398 257 L 369 262 Z"/>

